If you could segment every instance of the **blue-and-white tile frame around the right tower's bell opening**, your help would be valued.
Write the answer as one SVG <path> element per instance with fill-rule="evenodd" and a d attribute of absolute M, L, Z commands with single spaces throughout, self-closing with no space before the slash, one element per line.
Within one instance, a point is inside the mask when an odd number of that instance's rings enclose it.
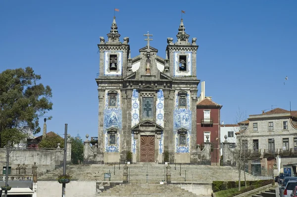
<path fill-rule="evenodd" d="M 192 75 L 192 52 L 185 51 L 180 52 L 176 51 L 173 54 L 174 58 L 174 70 L 173 76 L 174 77 L 183 77 L 183 76 L 191 76 Z M 186 55 L 187 56 L 187 70 L 186 71 L 179 71 L 179 55 Z"/>

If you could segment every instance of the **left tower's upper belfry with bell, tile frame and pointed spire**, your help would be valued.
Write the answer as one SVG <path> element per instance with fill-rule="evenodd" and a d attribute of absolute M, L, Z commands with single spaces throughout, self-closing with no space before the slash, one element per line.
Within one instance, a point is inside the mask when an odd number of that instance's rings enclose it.
<path fill-rule="evenodd" d="M 125 76 L 127 70 L 127 59 L 130 51 L 129 37 L 120 42 L 120 34 L 115 22 L 115 16 L 111 24 L 110 33 L 107 34 L 107 42 L 100 37 L 98 44 L 100 52 L 99 76 Z"/>

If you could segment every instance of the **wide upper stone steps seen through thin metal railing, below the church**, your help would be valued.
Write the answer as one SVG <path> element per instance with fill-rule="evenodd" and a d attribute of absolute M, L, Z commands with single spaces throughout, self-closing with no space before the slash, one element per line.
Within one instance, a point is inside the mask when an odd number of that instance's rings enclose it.
<path fill-rule="evenodd" d="M 159 183 L 166 180 L 167 170 L 171 174 L 172 182 L 212 182 L 238 181 L 239 171 L 230 166 L 205 165 L 167 165 L 162 164 L 130 164 L 128 165 L 129 183 Z M 79 181 L 123 181 L 124 165 L 71 165 L 66 167 L 66 173 L 72 180 Z M 241 171 L 241 179 L 248 181 L 272 179 L 271 170 L 263 169 L 261 174 L 252 174 L 250 171 Z M 63 173 L 61 166 L 39 166 L 38 180 L 57 180 Z"/>

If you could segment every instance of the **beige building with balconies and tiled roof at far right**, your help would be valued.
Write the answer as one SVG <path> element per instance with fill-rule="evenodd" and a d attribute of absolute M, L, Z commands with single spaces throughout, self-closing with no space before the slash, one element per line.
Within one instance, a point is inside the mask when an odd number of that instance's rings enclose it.
<path fill-rule="evenodd" d="M 297 111 L 275 108 L 262 114 L 249 115 L 244 134 L 250 150 L 248 168 L 280 168 L 297 161 Z M 296 174 L 296 167 L 292 168 Z"/>

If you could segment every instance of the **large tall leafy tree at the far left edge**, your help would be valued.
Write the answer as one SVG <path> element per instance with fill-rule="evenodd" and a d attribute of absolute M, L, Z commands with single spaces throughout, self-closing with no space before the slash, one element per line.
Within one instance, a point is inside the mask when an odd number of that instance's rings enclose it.
<path fill-rule="evenodd" d="M 0 147 L 7 142 L 7 135 L 2 133 L 10 129 L 27 127 L 34 134 L 41 131 L 39 117 L 52 109 L 52 94 L 49 86 L 37 83 L 40 79 L 31 67 L 0 73 L 0 138 L 4 138 L 0 139 Z"/>

